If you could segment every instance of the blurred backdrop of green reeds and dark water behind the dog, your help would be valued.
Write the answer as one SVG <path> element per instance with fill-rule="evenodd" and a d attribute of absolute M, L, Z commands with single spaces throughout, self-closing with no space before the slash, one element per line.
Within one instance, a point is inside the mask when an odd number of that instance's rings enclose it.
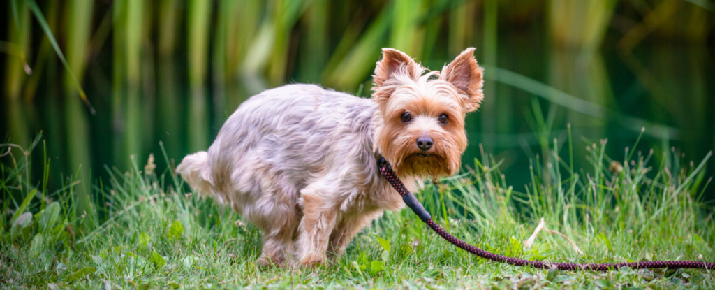
<path fill-rule="evenodd" d="M 159 142 L 172 165 L 206 150 L 227 116 L 267 88 L 308 82 L 369 97 L 382 47 L 430 69 L 476 48 L 485 100 L 467 117 L 463 164 L 494 155 L 515 190 L 555 138 L 568 156 L 569 124 L 576 168 L 593 166 L 586 147 L 605 139 L 624 160 L 643 127 L 636 150 L 652 148 L 654 167 L 689 168 L 715 147 L 711 0 L 0 5 L 1 137 L 27 147 L 41 132 L 36 150 L 55 188 L 74 178 L 99 186 L 107 170 L 126 170 L 130 156 L 143 166 L 150 153 L 165 172 Z M 39 178 L 47 160 L 32 156 Z"/>

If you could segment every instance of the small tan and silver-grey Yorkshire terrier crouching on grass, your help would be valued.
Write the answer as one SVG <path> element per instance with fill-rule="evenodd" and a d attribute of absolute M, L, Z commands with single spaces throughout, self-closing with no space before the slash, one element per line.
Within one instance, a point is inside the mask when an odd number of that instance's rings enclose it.
<path fill-rule="evenodd" d="M 370 100 L 312 84 L 266 90 L 243 102 L 208 152 L 187 155 L 177 172 L 262 229 L 257 264 L 335 259 L 383 211 L 404 206 L 378 171 L 380 156 L 410 191 L 423 178 L 458 172 L 464 117 L 483 99 L 473 52 L 439 72 L 383 49 Z"/>

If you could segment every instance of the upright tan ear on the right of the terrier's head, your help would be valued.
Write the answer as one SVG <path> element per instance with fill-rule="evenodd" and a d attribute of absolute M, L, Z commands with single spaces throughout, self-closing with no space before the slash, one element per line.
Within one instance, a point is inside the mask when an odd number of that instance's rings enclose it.
<path fill-rule="evenodd" d="M 484 99 L 483 72 L 484 69 L 477 65 L 477 60 L 474 58 L 474 47 L 465 49 L 452 63 L 442 69 L 440 79 L 450 82 L 460 91 L 460 95 L 466 96 L 463 100 L 465 112 L 477 110 Z"/>

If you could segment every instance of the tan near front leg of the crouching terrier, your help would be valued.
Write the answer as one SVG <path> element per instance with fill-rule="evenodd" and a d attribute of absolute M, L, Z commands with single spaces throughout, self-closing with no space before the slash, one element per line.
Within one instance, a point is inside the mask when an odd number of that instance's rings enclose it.
<path fill-rule="evenodd" d="M 321 190 L 312 186 L 301 190 L 303 218 L 298 226 L 295 249 L 303 266 L 325 261 L 330 233 L 335 228 L 337 208 L 329 204 L 321 193 Z"/>

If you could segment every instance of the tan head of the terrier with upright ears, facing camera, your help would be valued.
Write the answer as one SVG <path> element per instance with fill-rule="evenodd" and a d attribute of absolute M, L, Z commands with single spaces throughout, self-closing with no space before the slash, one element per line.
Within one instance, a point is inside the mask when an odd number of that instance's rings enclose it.
<path fill-rule="evenodd" d="M 373 101 L 381 117 L 375 149 L 398 175 L 439 177 L 459 171 L 467 147 L 464 117 L 484 97 L 483 68 L 473 53 L 468 48 L 442 72 L 430 72 L 397 49 L 383 49 L 373 75 Z"/>

